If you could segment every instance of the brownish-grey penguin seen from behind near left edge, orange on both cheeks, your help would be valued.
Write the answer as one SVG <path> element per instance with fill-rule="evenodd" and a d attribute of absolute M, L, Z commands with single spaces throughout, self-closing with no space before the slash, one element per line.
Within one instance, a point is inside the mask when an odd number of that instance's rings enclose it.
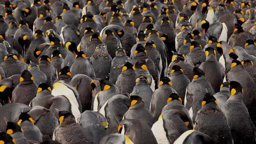
<path fill-rule="evenodd" d="M 28 70 L 24 70 L 20 76 L 20 84 L 13 90 L 12 102 L 19 102 L 29 105 L 30 101 L 36 97 L 37 85 Z"/>

